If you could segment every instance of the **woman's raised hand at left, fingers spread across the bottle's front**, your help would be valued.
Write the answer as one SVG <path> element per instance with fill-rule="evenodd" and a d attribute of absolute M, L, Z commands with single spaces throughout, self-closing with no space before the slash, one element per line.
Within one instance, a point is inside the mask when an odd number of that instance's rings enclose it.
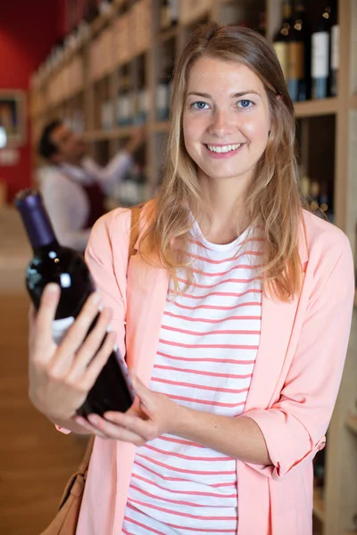
<path fill-rule="evenodd" d="M 37 316 L 30 317 L 29 334 L 29 398 L 53 421 L 69 420 L 75 415 L 115 343 L 115 333 L 107 333 L 112 318 L 109 309 L 103 309 L 86 338 L 99 312 L 99 296 L 93 293 L 57 346 L 52 336 L 52 322 L 60 292 L 57 284 L 46 286 Z"/>

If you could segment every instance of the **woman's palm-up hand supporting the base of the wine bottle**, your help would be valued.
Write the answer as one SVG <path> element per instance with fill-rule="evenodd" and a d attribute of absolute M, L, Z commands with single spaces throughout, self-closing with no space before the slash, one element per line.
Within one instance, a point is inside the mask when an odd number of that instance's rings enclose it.
<path fill-rule="evenodd" d="M 180 406 L 167 396 L 149 390 L 132 374 L 131 377 L 137 400 L 126 413 L 107 412 L 103 418 L 89 415 L 88 422 L 76 416 L 75 421 L 102 438 L 132 442 L 136 446 L 170 433 L 175 428 Z"/>

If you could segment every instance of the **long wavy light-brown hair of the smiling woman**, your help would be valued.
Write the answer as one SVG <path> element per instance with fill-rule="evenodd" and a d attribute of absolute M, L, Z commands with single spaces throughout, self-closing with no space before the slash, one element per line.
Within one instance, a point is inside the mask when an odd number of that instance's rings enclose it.
<path fill-rule="evenodd" d="M 190 69 L 203 56 L 243 63 L 265 87 L 270 106 L 270 136 L 254 170 L 245 205 L 250 226 L 259 226 L 263 233 L 263 291 L 278 300 L 290 300 L 300 289 L 302 272 L 298 240 L 303 224 L 303 197 L 295 162 L 295 112 L 274 49 L 252 29 L 205 24 L 195 29 L 181 53 L 173 77 L 166 168 L 154 216 L 140 249 L 144 255 L 145 251 L 159 254 L 177 288 L 178 268 L 186 268 L 192 281 L 187 257 L 192 228 L 190 211 L 195 215 L 209 214 L 202 202 L 195 161 L 184 144 L 182 118 Z"/>

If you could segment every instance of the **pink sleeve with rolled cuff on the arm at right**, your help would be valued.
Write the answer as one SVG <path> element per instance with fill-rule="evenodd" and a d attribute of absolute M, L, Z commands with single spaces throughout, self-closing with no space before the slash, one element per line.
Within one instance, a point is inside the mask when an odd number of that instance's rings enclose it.
<path fill-rule="evenodd" d="M 273 479 L 310 462 L 325 445 L 353 310 L 353 257 L 345 235 L 337 256 L 332 268 L 315 268 L 316 284 L 279 399 L 244 415 L 259 425 L 272 461 L 272 466 L 250 466 Z"/>

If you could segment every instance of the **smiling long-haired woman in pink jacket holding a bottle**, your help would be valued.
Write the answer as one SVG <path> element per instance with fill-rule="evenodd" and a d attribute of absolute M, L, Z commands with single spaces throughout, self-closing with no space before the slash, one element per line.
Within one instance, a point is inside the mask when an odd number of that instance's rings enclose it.
<path fill-rule="evenodd" d="M 99 297 L 61 346 L 49 286 L 30 395 L 55 424 L 97 435 L 79 535 L 311 533 L 312 459 L 325 444 L 353 306 L 346 236 L 303 210 L 295 118 L 278 59 L 249 29 L 197 29 L 174 77 L 161 193 L 95 225 Z M 94 363 L 107 326 L 107 337 Z M 116 338 L 116 340 L 114 340 Z M 118 342 L 138 403 L 75 416 Z M 111 439 L 111 440 L 106 440 Z"/>

